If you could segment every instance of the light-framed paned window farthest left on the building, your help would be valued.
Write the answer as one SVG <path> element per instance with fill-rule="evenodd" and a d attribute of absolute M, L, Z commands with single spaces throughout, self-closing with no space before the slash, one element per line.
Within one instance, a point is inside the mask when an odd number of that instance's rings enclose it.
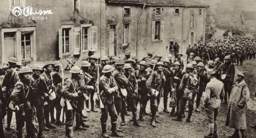
<path fill-rule="evenodd" d="M 22 59 L 30 59 L 31 58 L 31 34 L 22 34 L 21 35 L 21 53 Z"/>

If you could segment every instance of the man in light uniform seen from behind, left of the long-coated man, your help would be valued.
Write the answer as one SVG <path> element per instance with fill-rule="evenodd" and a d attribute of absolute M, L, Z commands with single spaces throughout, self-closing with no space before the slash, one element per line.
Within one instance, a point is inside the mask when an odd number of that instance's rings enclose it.
<path fill-rule="evenodd" d="M 205 88 L 204 106 L 208 116 L 210 133 L 205 138 L 213 138 L 217 136 L 217 115 L 220 107 L 220 98 L 224 96 L 223 83 L 216 79 L 216 71 L 207 69 L 207 77 L 210 82 Z"/>

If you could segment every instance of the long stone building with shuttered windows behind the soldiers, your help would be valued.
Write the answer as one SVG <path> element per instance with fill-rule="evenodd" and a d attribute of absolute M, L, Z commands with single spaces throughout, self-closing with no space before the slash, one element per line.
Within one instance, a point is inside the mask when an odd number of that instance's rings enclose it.
<path fill-rule="evenodd" d="M 17 8 L 19 7 L 19 8 Z M 134 55 L 178 42 L 204 41 L 205 9 L 194 1 L 174 0 L 6 0 L 0 5 L 0 62 L 10 56 L 31 61 Z M 40 14 L 41 13 L 41 14 Z"/>

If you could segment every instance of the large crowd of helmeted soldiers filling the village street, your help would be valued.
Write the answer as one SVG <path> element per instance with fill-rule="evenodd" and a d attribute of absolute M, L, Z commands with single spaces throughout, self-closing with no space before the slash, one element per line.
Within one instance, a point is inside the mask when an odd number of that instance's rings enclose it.
<path fill-rule="evenodd" d="M 224 41 L 211 40 L 210 43 L 216 47 L 222 47 L 219 44 L 229 45 L 241 40 L 248 40 L 251 47 L 255 49 L 255 41 L 246 37 L 235 36 Z M 211 44 L 206 43 L 200 46 L 208 49 L 208 47 L 212 47 Z M 232 48 L 228 47 L 227 49 Z M 205 137 L 217 137 L 216 118 L 220 100 L 223 104 L 227 104 L 227 97 L 232 95 L 235 67 L 233 53 L 222 52 L 221 55 L 213 56 L 215 59 L 211 61 L 209 59 L 213 57 L 209 56 L 210 50 L 206 51 L 208 51 L 208 59 L 204 55 L 200 55 L 201 52 L 196 54 L 190 52 L 185 70 L 183 70 L 184 63 L 181 53 L 177 53 L 175 58 L 172 55 L 163 58 L 159 54 L 153 56 L 153 53 L 149 52 L 146 58 L 140 62 L 136 57 L 131 57 L 128 52 L 125 53 L 125 59 L 108 58 L 107 56 L 99 59 L 95 55 L 91 55 L 79 66 L 73 66 L 70 69 L 70 77 L 66 79 L 63 79 L 63 68 L 58 61 L 46 62 L 43 67 L 34 64 L 31 67 L 19 69 L 16 59 L 11 57 L 8 60 L 9 69 L 5 73 L 2 89 L 0 89 L 2 90 L 0 91 L 1 118 L 7 114 L 5 130 L 11 130 L 12 113 L 15 112 L 17 137 L 22 137 L 22 128 L 25 123 L 26 137 L 45 137 L 43 131 L 55 129 L 52 124 L 63 125 L 60 121 L 63 108 L 63 114 L 66 116 L 66 136 L 73 137 L 74 117 L 76 118 L 75 130 L 86 130 L 89 127 L 84 124 L 86 116 L 82 111 L 84 102 L 86 102 L 87 112 L 90 112 L 88 110 L 90 100 L 92 112 L 97 112 L 95 107 L 101 109 L 102 137 L 108 137 L 106 130 L 108 115 L 111 118 L 111 136 L 123 137 L 122 129 L 117 127 L 119 114 L 121 116 L 120 125 L 123 126 L 125 125 L 125 116 L 129 115 L 128 111 L 131 111 L 133 125 L 140 127 L 138 121 L 144 121 L 143 116 L 147 114 L 146 105 L 149 101 L 151 125 L 156 127 L 156 123 L 161 123 L 158 120 L 158 106 L 163 97 L 163 112 L 169 113 L 173 117 L 176 116 L 174 121 L 182 121 L 182 118 L 185 118 L 186 104 L 188 103 L 186 122 L 191 122 L 194 100 L 196 98 L 196 112 L 200 112 L 201 97 L 205 92 L 204 106 L 202 107 L 207 112 L 210 130 Z M 194 58 L 194 55 L 197 56 Z M 241 78 L 244 77 L 241 72 L 237 75 Z M 247 86 L 246 83 L 243 86 Z M 246 91 L 245 93 L 248 94 L 249 90 L 247 87 L 241 91 Z M 94 94 L 97 94 L 96 105 L 93 101 Z M 170 95 L 170 112 L 167 110 L 168 95 Z M 246 104 L 247 99 L 243 100 L 240 106 Z M 140 107 L 139 119 L 137 116 L 138 104 Z M 56 109 L 56 118 L 54 118 L 54 108 Z M 2 121 L 0 122 L 0 136 L 4 137 L 3 124 Z M 242 136 L 245 136 L 246 126 L 238 129 L 241 130 Z M 237 133 L 236 129 L 233 137 L 237 137 Z"/>

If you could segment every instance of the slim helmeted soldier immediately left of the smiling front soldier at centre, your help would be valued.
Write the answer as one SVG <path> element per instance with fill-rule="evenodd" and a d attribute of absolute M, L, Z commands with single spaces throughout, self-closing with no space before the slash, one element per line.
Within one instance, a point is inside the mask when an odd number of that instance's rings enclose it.
<path fill-rule="evenodd" d="M 140 70 L 136 70 L 135 72 L 135 76 L 138 82 L 138 94 L 140 99 L 140 121 L 144 121 L 143 115 L 146 113 L 146 104 L 149 100 L 148 90 L 146 89 L 146 80 L 148 79 L 146 65 L 146 61 L 140 61 Z"/>

